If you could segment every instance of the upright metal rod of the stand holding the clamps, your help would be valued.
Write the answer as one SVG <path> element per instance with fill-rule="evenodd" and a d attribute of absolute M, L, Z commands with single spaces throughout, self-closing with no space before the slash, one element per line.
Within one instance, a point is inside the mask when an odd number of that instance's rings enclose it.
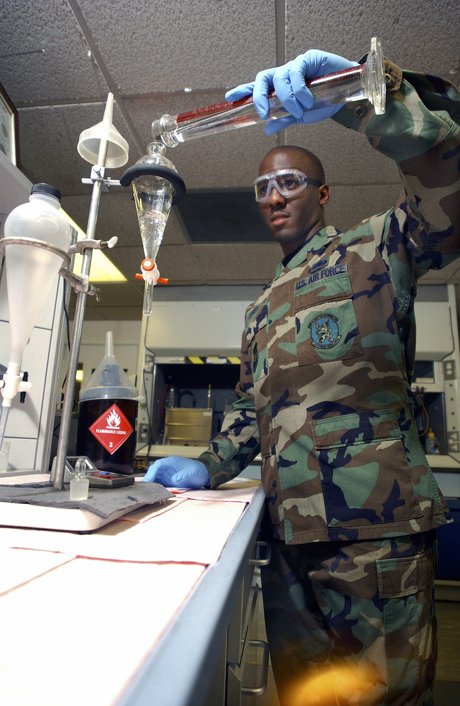
<path fill-rule="evenodd" d="M 98 167 L 104 169 L 105 160 L 107 157 L 108 140 L 101 139 L 98 155 Z M 96 222 L 98 221 L 98 211 L 100 203 L 100 194 L 102 192 L 102 181 L 93 183 L 93 194 L 91 196 L 90 213 L 88 215 L 88 227 L 86 229 L 86 240 L 94 238 Z M 90 275 L 91 256 L 93 250 L 86 248 L 83 250 L 83 263 L 81 265 L 81 274 Z M 57 490 L 62 490 L 64 487 L 64 467 L 66 462 L 67 448 L 69 447 L 69 434 L 73 408 L 73 395 L 75 394 L 76 372 L 78 368 L 78 356 L 80 354 L 81 334 L 83 330 L 83 319 L 85 317 L 86 292 L 77 293 L 77 303 L 75 311 L 75 320 L 73 321 L 71 349 L 69 353 L 69 369 L 67 371 L 66 394 L 64 395 L 64 404 L 62 405 L 61 427 L 59 429 L 59 441 L 57 443 L 56 454 L 56 469 L 54 474 L 53 486 Z"/>

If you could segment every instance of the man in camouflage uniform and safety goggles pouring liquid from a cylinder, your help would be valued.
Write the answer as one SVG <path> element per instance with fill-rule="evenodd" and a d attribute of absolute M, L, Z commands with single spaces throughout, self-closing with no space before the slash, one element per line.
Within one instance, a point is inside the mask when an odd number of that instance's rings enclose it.
<path fill-rule="evenodd" d="M 341 232 L 324 220 L 319 160 L 266 155 L 259 175 L 297 169 L 319 186 L 290 197 L 269 184 L 261 213 L 285 257 L 247 309 L 238 400 L 199 462 L 171 457 L 146 476 L 214 488 L 261 453 L 282 706 L 432 704 L 435 528 L 450 517 L 413 417 L 414 299 L 420 275 L 460 255 L 460 97 L 440 78 L 385 71 L 384 115 L 360 102 L 334 120 L 398 163 L 405 195 Z M 276 87 L 273 70 L 264 80 Z M 324 670 L 334 700 L 305 681 Z"/>

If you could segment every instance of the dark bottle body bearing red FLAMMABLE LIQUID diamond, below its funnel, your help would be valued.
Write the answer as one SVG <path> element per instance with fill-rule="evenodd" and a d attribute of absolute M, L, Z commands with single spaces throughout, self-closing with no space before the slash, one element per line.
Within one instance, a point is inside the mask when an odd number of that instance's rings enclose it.
<path fill-rule="evenodd" d="M 98 438 L 90 431 L 95 421 L 116 405 L 124 414 L 132 427 L 132 431 L 124 436 L 124 441 L 110 453 Z M 136 460 L 136 431 L 137 431 L 137 400 L 120 400 L 116 397 L 102 400 L 83 400 L 78 404 L 78 428 L 76 440 L 76 455 L 88 456 L 100 471 L 110 471 L 122 475 L 131 475 L 134 472 Z M 114 435 L 116 439 L 117 436 Z"/>

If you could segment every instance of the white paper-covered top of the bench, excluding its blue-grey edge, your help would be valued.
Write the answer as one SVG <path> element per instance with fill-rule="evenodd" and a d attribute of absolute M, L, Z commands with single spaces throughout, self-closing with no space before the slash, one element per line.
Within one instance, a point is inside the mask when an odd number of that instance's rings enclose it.
<path fill-rule="evenodd" d="M 257 490 L 239 487 L 248 499 Z M 92 534 L 0 528 L 1 703 L 119 702 L 251 505 L 225 501 L 225 489 L 208 493 L 146 506 Z"/>

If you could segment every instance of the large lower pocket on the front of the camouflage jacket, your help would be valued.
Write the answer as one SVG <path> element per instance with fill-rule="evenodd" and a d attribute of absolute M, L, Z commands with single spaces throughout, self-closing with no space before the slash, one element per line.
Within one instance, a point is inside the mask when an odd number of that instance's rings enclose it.
<path fill-rule="evenodd" d="M 319 419 L 312 428 L 329 527 L 420 516 L 393 409 Z"/>

